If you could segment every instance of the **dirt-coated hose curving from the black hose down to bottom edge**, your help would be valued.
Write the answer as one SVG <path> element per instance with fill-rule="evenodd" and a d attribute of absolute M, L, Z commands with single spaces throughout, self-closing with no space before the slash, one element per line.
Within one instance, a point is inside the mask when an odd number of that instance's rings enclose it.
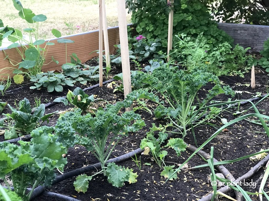
<path fill-rule="evenodd" d="M 191 152 L 194 152 L 197 150 L 196 147 L 192 146 L 192 145 L 188 145 L 187 150 L 191 151 Z M 202 151 L 202 150 L 199 150 L 197 153 L 197 155 L 200 155 L 206 159 L 210 158 L 210 155 L 207 154 L 206 152 Z M 213 158 L 213 162 L 218 162 L 217 159 Z M 217 165 L 217 168 L 218 170 L 224 175 L 224 177 L 230 181 L 235 181 L 235 178 L 232 176 L 232 174 L 229 172 L 229 170 L 227 170 L 223 165 Z M 237 201 L 243 201 L 244 200 L 244 197 L 242 195 L 242 193 L 234 190 L 235 192 L 235 197 L 236 197 L 236 200 Z"/>

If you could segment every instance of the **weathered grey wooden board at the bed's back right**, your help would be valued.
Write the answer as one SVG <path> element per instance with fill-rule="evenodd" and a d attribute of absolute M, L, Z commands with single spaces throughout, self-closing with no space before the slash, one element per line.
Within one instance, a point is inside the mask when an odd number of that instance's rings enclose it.
<path fill-rule="evenodd" d="M 269 26 L 218 23 L 218 28 L 228 33 L 234 39 L 234 44 L 251 47 L 252 52 L 262 50 L 264 41 L 269 38 Z"/>

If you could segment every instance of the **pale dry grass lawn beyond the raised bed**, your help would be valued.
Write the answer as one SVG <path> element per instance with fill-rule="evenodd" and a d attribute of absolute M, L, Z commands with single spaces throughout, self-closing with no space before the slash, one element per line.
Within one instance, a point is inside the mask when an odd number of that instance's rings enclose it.
<path fill-rule="evenodd" d="M 24 8 L 31 9 L 36 15 L 47 16 L 40 23 L 39 39 L 53 38 L 51 29 L 58 29 L 62 36 L 98 29 L 99 1 L 98 0 L 21 0 Z M 0 0 L 0 19 L 4 25 L 22 30 L 28 28 L 25 20 L 19 17 L 12 0 Z M 116 0 L 106 1 L 108 27 L 118 25 L 118 10 Z M 127 13 L 127 12 L 126 12 Z M 130 14 L 127 14 L 130 23 Z"/>

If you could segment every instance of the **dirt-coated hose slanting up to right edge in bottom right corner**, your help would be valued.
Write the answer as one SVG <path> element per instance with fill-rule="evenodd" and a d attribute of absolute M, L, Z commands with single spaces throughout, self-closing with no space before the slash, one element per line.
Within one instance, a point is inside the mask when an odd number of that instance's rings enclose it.
<path fill-rule="evenodd" d="M 234 181 L 234 183 L 240 183 L 240 181 L 244 181 L 249 179 L 250 177 L 252 177 L 256 172 L 258 172 L 258 170 L 260 169 L 261 166 L 265 166 L 266 163 L 269 160 L 269 155 L 267 155 L 264 159 L 262 159 L 257 165 L 255 165 L 252 169 L 249 170 L 249 172 L 247 172 L 246 174 L 244 174 L 243 176 L 239 177 L 238 179 L 236 179 Z M 227 193 L 231 190 L 230 187 L 225 186 L 222 187 L 221 189 L 217 190 L 217 192 L 222 192 L 222 193 Z M 208 195 L 206 195 L 205 197 L 201 198 L 199 201 L 210 201 L 212 199 L 213 193 L 209 193 Z"/>

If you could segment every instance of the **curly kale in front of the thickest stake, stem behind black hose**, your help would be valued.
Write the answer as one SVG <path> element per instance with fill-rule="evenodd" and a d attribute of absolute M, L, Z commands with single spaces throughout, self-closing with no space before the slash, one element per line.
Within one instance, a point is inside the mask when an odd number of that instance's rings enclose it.
<path fill-rule="evenodd" d="M 145 126 L 140 115 L 133 111 L 118 115 L 123 106 L 123 102 L 116 105 L 109 104 L 105 110 L 98 109 L 95 116 L 91 114 L 81 116 L 80 110 L 67 113 L 65 116 L 81 136 L 79 144 L 91 151 L 101 163 L 104 175 L 106 175 L 105 163 L 120 140 L 128 136 L 128 133 L 136 132 Z"/>

